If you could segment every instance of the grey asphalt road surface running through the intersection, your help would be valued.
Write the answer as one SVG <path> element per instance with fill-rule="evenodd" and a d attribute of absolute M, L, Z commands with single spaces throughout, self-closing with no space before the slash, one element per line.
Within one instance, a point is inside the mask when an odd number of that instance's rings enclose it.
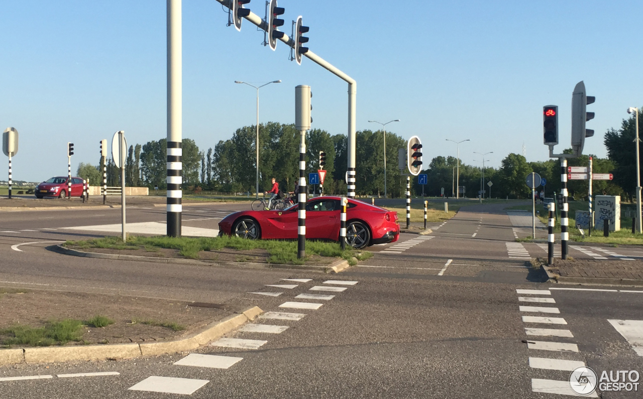
<path fill-rule="evenodd" d="M 200 220 L 184 225 L 215 228 L 217 220 L 208 218 L 220 218 L 240 206 L 185 207 L 184 220 Z M 131 209 L 128 215 L 132 223 L 150 222 L 162 221 L 165 212 L 163 208 Z M 434 232 L 429 236 L 403 234 L 399 243 L 374 246 L 370 248 L 372 259 L 340 275 L 167 264 L 150 267 L 150 263 L 132 261 L 89 263 L 42 248 L 48 243 L 19 246 L 23 252 L 11 249 L 19 243 L 87 237 L 94 233 L 62 227 L 118 223 L 119 218 L 118 209 L 3 213 L 0 285 L 257 305 L 264 311 L 305 316 L 254 322 L 287 326 L 281 333 L 235 331 L 226 336 L 258 340 L 226 343 L 257 345 L 257 349 L 207 346 L 194 352 L 242 358 L 227 369 L 174 364 L 194 357 L 182 360 L 188 353 L 0 367 L 0 378 L 53 377 L 0 380 L 0 398 L 185 397 L 130 389 L 163 389 L 166 384 L 167 389 L 196 384 L 191 394 L 195 398 L 554 398 L 561 394 L 545 391 L 557 389 L 559 382 L 568 384 L 569 365 L 579 364 L 574 362 L 583 362 L 599 375 L 604 370 L 638 370 L 643 374 L 643 357 L 633 349 L 638 330 L 631 328 L 632 337 L 631 331 L 628 335 L 627 328 L 619 327 L 628 341 L 613 324 L 619 325 L 616 320 L 643 320 L 643 289 L 622 292 L 623 288 L 593 286 L 592 290 L 560 290 L 554 288 L 575 287 L 541 283 L 541 275 L 531 270 L 524 258 L 545 252 L 536 244 L 514 242 L 514 232 L 527 233 L 514 230 L 502 205 L 467 207 L 446 223 L 433 224 Z M 636 255 L 635 250 L 614 251 Z M 573 255 L 586 254 L 578 251 Z M 292 278 L 311 281 L 282 280 Z M 356 283 L 325 283 L 328 280 Z M 320 286 L 323 288 L 314 288 Z M 249 292 L 281 294 L 268 297 Z M 296 298 L 301 294 L 303 298 Z M 320 299 L 311 294 L 334 297 Z M 286 308 L 285 302 L 321 306 L 316 310 Z M 555 335 L 548 335 L 551 329 L 557 330 Z M 57 376 L 94 372 L 118 375 Z M 138 385 L 145 382 L 150 385 Z M 185 394 L 191 391 L 185 389 Z M 637 398 L 640 393 L 603 392 L 601 397 Z"/>

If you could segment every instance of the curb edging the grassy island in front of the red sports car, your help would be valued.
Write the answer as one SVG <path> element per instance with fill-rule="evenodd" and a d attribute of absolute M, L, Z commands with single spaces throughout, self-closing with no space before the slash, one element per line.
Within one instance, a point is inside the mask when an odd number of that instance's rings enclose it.
<path fill-rule="evenodd" d="M 232 262 L 232 261 L 203 261 L 201 259 L 178 259 L 172 257 L 150 257 L 140 255 L 117 255 L 117 254 L 100 254 L 98 252 L 84 252 L 65 248 L 62 245 L 52 245 L 53 252 L 58 252 L 63 255 L 79 256 L 79 257 L 92 257 L 96 259 L 114 259 L 119 261 L 139 261 L 150 263 L 174 263 L 174 264 L 199 264 L 201 266 L 219 266 L 219 267 L 237 267 L 237 268 L 280 268 L 280 269 L 303 269 L 303 270 L 316 270 L 325 273 L 339 273 L 349 267 L 348 261 L 338 259 L 330 266 L 321 265 L 305 265 L 305 264 L 280 264 L 280 263 L 256 263 L 256 262 Z M 340 265 L 346 263 L 344 267 Z"/>

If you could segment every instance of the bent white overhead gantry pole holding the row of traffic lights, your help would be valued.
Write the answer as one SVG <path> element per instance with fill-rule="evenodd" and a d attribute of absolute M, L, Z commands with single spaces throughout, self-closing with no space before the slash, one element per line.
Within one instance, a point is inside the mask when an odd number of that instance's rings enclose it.
<path fill-rule="evenodd" d="M 180 7 L 181 7 L 181 1 L 180 0 L 168 0 L 168 4 L 170 1 L 177 1 L 179 4 L 179 14 L 180 14 Z M 217 0 L 221 5 L 226 6 L 232 9 L 232 0 Z M 168 8 L 169 10 L 169 8 Z M 261 17 L 259 17 L 257 14 L 250 12 L 247 17 L 244 17 L 247 19 L 250 23 L 255 24 L 259 29 L 264 30 L 265 32 L 268 32 L 268 25 L 266 21 L 264 21 Z M 168 19 L 169 21 L 169 19 Z M 179 23 L 180 24 L 180 23 Z M 179 25 L 180 26 L 180 25 Z M 169 30 L 168 30 L 169 32 Z M 168 33 L 169 35 L 169 33 Z M 169 36 L 168 36 L 169 37 Z M 180 37 L 180 35 L 179 35 Z M 284 36 L 278 39 L 289 47 L 294 46 L 294 40 L 288 37 L 287 34 L 284 33 Z M 180 43 L 180 40 L 179 40 Z M 169 51 L 168 51 L 169 55 Z M 308 50 L 306 53 L 304 53 L 308 59 L 310 59 L 312 62 L 315 64 L 320 65 L 322 68 L 325 70 L 330 71 L 332 74 L 336 75 L 339 77 L 341 80 L 344 80 L 349 84 L 349 142 L 348 142 L 348 149 L 349 149 L 349 154 L 348 154 L 348 167 L 347 167 L 347 172 L 348 172 L 348 181 L 347 181 L 347 191 L 348 191 L 348 197 L 349 198 L 355 198 L 355 153 L 356 153 L 356 106 L 357 106 L 357 101 L 356 101 L 356 96 L 357 96 L 357 82 L 349 77 L 346 73 L 343 73 L 340 71 L 338 68 L 335 68 L 332 64 L 327 62 L 326 60 L 322 59 L 320 56 L 316 55 L 313 53 L 311 50 Z M 168 62 L 169 65 L 169 62 Z M 169 74 L 169 69 L 168 69 L 168 74 Z M 169 113 L 168 113 L 169 115 Z M 169 118 L 169 116 L 168 116 Z M 169 142 L 169 140 L 168 140 Z"/>

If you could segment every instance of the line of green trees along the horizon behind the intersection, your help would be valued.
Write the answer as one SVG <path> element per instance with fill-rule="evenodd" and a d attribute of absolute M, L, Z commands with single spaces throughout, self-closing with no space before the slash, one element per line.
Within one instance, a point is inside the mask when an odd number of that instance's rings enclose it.
<path fill-rule="evenodd" d="M 641 121 L 640 121 L 641 122 Z M 623 120 L 619 129 L 610 129 L 604 144 L 608 150 L 607 158 L 593 156 L 593 172 L 613 173 L 613 181 L 593 181 L 595 194 L 620 195 L 630 198 L 635 195 L 635 137 L 634 118 Z M 213 190 L 217 192 L 251 192 L 255 191 L 255 136 L 254 125 L 237 129 L 230 139 L 219 141 L 207 151 L 199 150 L 194 140 L 183 139 L 183 189 L 184 190 Z M 259 125 L 259 190 L 270 189 L 271 178 L 276 178 L 280 188 L 292 191 L 299 177 L 299 145 L 300 132 L 293 124 L 268 122 Z M 346 194 L 345 174 L 347 171 L 347 136 L 331 135 L 321 129 L 312 129 L 305 133 L 307 153 L 306 176 L 319 169 L 319 152 L 326 153 L 327 171 L 324 181 L 326 194 Z M 384 132 L 363 130 L 356 133 L 356 193 L 366 196 L 382 196 L 384 194 Z M 428 151 L 424 147 L 424 153 Z M 404 149 L 404 169 L 398 165 L 398 150 Z M 565 153 L 571 153 L 570 149 Z M 406 140 L 395 133 L 386 132 L 386 186 L 391 197 L 404 196 L 406 187 Z M 587 166 L 588 155 L 579 158 L 569 158 L 569 166 Z M 412 192 L 426 196 L 455 195 L 455 180 L 457 180 L 457 159 L 453 156 L 435 156 L 427 164 L 428 157 L 424 156 L 422 173 L 428 176 L 428 184 L 419 185 L 413 177 Z M 99 165 L 81 163 L 78 166 L 78 176 L 89 178 L 92 185 L 102 183 L 102 160 Z M 125 162 L 125 181 L 128 186 L 149 187 L 158 186 L 163 190 L 167 187 L 167 139 L 150 141 L 143 145 L 129 147 Z M 460 162 L 460 186 L 464 194 L 460 196 L 475 198 L 480 190 L 486 197 L 497 198 L 529 198 L 530 188 L 525 183 L 525 177 L 530 172 L 537 172 L 547 179 L 544 187 L 546 196 L 561 189 L 561 170 L 559 160 L 527 162 L 520 154 L 508 154 L 499 168 L 484 168 L 484 186 L 482 185 L 482 167 L 467 165 Z M 111 158 L 107 160 L 107 185 L 117 186 L 120 181 L 120 171 Z M 491 188 L 487 185 L 492 181 Z M 97 183 L 98 182 L 98 183 Z M 314 190 L 318 187 L 311 187 Z M 540 187 L 543 189 L 543 187 Z M 586 180 L 572 180 L 568 183 L 570 196 L 576 199 L 587 195 Z M 625 199 L 625 198 L 624 198 Z"/>

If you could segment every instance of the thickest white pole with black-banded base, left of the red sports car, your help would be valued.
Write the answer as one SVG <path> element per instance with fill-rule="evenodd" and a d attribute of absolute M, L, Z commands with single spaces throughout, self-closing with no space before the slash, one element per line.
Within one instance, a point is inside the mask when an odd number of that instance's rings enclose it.
<path fill-rule="evenodd" d="M 167 0 L 167 236 L 181 237 L 181 0 Z"/>

